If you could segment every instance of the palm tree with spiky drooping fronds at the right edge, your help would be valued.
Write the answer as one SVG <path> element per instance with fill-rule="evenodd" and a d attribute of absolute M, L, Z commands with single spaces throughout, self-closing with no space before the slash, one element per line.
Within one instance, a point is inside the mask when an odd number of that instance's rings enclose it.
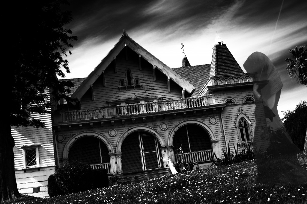
<path fill-rule="evenodd" d="M 286 59 L 286 70 L 289 76 L 296 78 L 302 85 L 307 86 L 307 48 L 304 45 L 289 51 L 294 59 Z"/>

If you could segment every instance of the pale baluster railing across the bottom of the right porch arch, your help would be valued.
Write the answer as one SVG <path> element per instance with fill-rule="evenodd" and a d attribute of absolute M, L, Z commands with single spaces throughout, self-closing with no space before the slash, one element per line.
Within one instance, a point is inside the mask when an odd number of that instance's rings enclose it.
<path fill-rule="evenodd" d="M 186 163 L 190 162 L 202 162 L 202 161 L 211 161 L 213 158 L 212 149 L 202 150 L 197 152 L 188 152 L 175 154 L 175 161 L 185 161 Z"/>

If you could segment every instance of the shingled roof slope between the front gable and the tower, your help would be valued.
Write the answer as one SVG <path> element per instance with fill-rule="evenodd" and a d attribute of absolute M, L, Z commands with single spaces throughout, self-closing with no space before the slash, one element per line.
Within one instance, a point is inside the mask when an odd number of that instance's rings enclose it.
<path fill-rule="evenodd" d="M 196 87 L 196 90 L 192 94 L 193 97 L 193 96 L 199 96 L 198 93 L 203 88 L 205 83 L 208 81 L 210 74 L 210 64 L 178 67 L 178 68 L 173 68 L 173 70 L 181 77 L 185 78 L 185 80 L 187 80 L 193 86 Z"/>

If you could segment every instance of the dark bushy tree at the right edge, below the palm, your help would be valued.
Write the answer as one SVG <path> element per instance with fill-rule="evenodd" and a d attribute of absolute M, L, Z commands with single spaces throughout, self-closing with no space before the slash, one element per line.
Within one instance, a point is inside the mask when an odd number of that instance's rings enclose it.
<path fill-rule="evenodd" d="M 301 101 L 293 111 L 282 111 L 285 117 L 282 122 L 286 127 L 293 143 L 301 150 L 304 150 L 306 127 L 307 127 L 307 101 Z"/>

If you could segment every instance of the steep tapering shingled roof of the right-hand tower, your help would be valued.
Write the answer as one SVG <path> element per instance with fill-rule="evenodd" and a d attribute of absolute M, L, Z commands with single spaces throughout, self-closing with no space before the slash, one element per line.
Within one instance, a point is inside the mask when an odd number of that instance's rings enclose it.
<path fill-rule="evenodd" d="M 226 44 L 219 42 L 213 48 L 210 77 L 238 74 L 244 74 L 243 70 L 226 47 Z"/>

